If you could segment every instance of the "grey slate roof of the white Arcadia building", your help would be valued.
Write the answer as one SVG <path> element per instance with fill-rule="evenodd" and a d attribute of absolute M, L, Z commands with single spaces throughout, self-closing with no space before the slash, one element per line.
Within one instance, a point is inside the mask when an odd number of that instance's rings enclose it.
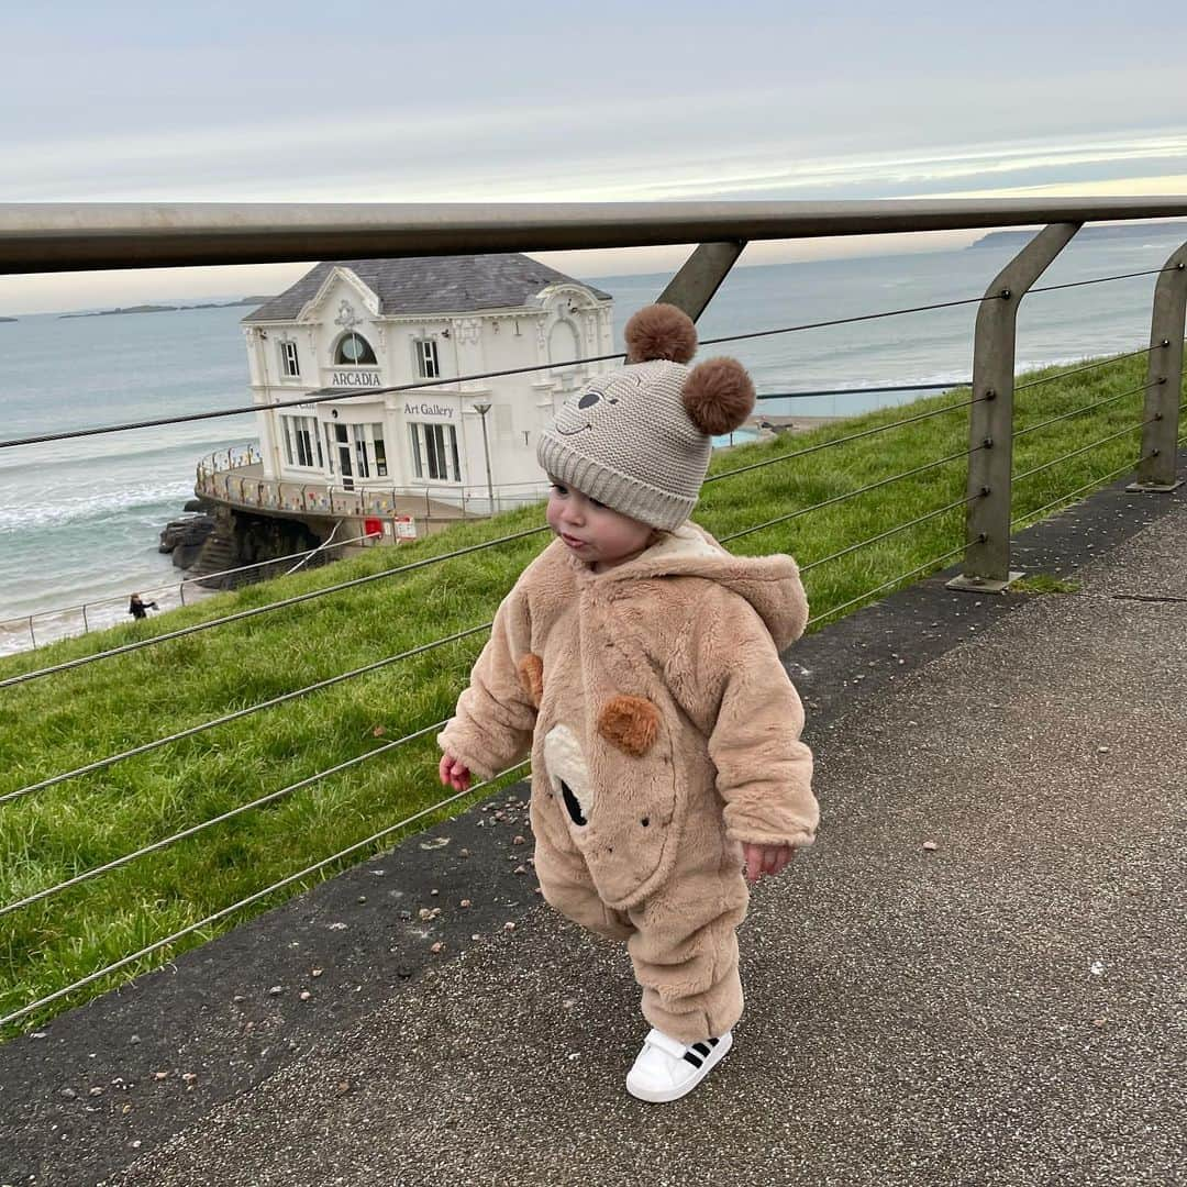
<path fill-rule="evenodd" d="M 566 277 L 526 255 L 414 255 L 402 260 L 326 260 L 291 288 L 248 313 L 245 322 L 287 322 L 317 296 L 330 271 L 349 268 L 380 299 L 380 312 L 464 313 L 526 305 L 547 285 L 567 281 L 589 288 L 599 300 L 609 293 Z"/>

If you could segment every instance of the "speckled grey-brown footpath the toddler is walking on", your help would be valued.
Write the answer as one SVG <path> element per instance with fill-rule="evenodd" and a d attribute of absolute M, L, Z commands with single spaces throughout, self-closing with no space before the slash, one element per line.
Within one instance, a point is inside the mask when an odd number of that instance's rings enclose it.
<path fill-rule="evenodd" d="M 933 578 L 793 648 L 824 826 L 685 1100 L 627 1096 L 629 963 L 514 874 L 501 796 L 0 1048 L 0 1181 L 1187 1185 L 1187 494 L 1103 491 L 1015 564 L 1080 588 Z"/>

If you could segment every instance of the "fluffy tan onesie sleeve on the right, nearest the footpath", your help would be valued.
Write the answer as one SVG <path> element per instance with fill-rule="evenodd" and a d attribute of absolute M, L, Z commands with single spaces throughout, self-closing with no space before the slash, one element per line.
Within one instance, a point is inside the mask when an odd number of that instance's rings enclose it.
<path fill-rule="evenodd" d="M 811 845 L 819 807 L 804 706 L 775 642 L 750 603 L 715 591 L 696 616 L 694 661 L 717 791 L 730 839 Z"/>

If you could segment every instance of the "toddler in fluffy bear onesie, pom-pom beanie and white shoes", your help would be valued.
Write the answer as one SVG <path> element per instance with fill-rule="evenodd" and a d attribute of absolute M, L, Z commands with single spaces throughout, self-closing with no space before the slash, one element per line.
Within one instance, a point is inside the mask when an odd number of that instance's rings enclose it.
<path fill-rule="evenodd" d="M 438 737 L 458 789 L 531 753 L 541 890 L 627 941 L 652 1027 L 627 1090 L 652 1102 L 729 1050 L 747 881 L 782 870 L 818 818 L 779 659 L 807 621 L 795 563 L 734 557 L 688 521 L 713 434 L 754 406 L 741 364 L 690 369 L 696 348 L 678 309 L 640 310 L 627 366 L 541 436 L 557 539 L 500 605 Z"/>

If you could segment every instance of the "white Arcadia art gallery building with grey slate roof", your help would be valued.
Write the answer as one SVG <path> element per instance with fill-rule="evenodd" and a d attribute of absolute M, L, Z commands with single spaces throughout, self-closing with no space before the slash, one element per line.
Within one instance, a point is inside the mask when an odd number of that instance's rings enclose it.
<path fill-rule="evenodd" d="M 610 306 L 608 293 L 526 255 L 319 264 L 243 319 L 261 477 L 277 489 L 424 493 L 471 512 L 489 508 L 490 491 L 496 508 L 540 497 L 538 433 L 607 366 L 556 364 L 614 350 Z M 269 408 L 421 381 L 437 382 Z"/>

